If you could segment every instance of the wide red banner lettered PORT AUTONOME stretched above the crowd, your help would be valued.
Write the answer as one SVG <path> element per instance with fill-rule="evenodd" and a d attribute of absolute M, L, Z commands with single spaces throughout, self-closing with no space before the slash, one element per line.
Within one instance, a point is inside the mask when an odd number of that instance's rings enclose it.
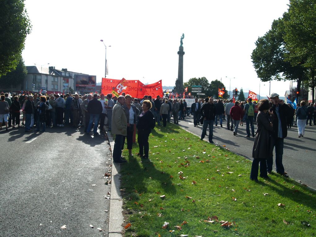
<path fill-rule="evenodd" d="M 118 89 L 116 87 L 119 86 L 122 80 L 102 78 L 101 93 L 105 95 L 111 94 L 113 90 L 115 91 Z M 118 94 L 125 92 L 125 94 L 129 94 L 134 98 L 143 98 L 144 95 L 151 95 L 152 98 L 156 98 L 157 95 L 160 95 L 161 97 L 163 96 L 161 80 L 149 85 L 145 85 L 139 80 L 125 80 L 123 87 L 125 86 L 126 88 Z"/>

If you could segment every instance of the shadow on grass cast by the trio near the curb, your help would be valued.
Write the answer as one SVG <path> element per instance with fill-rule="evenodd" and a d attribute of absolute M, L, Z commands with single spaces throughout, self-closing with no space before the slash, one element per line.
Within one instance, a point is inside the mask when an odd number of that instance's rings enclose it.
<path fill-rule="evenodd" d="M 159 171 L 148 159 L 142 159 L 141 162 L 138 159 L 140 159 L 138 156 L 130 156 L 129 162 L 121 165 L 121 186 L 126 188 L 126 191 L 128 190 L 126 193 L 122 193 L 124 198 L 135 200 L 139 197 L 137 193 L 147 192 L 145 180 L 148 179 L 158 181 L 165 193 L 176 193 L 170 174 Z"/>

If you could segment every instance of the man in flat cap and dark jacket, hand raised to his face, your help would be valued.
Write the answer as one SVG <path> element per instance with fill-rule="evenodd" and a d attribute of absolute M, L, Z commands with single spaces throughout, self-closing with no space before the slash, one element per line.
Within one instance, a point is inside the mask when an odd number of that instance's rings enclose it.
<path fill-rule="evenodd" d="M 288 135 L 286 117 L 290 113 L 290 108 L 284 103 L 284 100 L 279 99 L 279 95 L 272 93 L 269 96 L 272 103 L 269 113 L 272 116 L 272 141 L 276 152 L 276 172 L 288 177 L 287 173 L 284 172 L 282 164 L 283 156 L 283 139 Z M 267 171 L 271 173 L 273 166 L 273 156 L 267 159 Z"/>

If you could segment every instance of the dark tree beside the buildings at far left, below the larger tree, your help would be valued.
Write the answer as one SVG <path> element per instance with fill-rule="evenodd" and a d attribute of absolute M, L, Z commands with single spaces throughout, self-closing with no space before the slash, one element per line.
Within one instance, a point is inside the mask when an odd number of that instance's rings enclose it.
<path fill-rule="evenodd" d="M 6 75 L 0 77 L 0 84 L 5 88 L 12 88 L 21 85 L 24 81 L 24 78 L 27 75 L 27 70 L 24 65 L 23 58 L 20 57 L 18 65 L 15 70 L 8 72 Z"/>

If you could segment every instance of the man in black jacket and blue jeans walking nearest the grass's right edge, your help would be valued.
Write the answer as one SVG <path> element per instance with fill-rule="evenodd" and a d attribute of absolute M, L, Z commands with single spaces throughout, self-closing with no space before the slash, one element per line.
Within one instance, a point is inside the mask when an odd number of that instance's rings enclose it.
<path fill-rule="evenodd" d="M 213 97 L 205 98 L 205 103 L 201 107 L 201 115 L 202 118 L 204 118 L 203 121 L 203 130 L 201 135 L 201 140 L 204 139 L 206 134 L 206 129 L 208 126 L 210 126 L 210 134 L 209 134 L 209 142 L 213 142 L 213 126 L 214 126 L 214 119 L 216 116 L 216 107 L 213 104 Z"/>

